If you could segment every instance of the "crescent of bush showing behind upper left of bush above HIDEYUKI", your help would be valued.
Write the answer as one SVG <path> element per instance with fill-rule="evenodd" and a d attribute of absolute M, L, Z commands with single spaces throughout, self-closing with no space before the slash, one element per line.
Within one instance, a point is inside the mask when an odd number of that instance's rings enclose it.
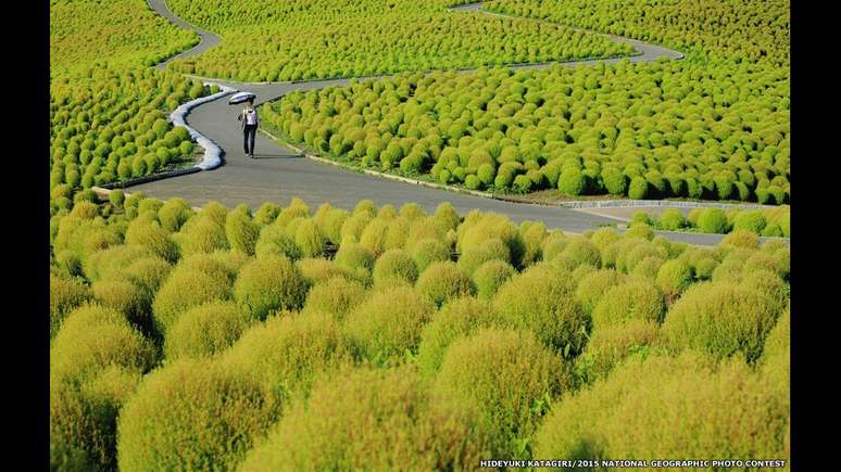
<path fill-rule="evenodd" d="M 485 301 L 467 296 L 447 303 L 432 315 L 432 320 L 421 333 L 417 354 L 421 372 L 434 375 L 441 366 L 447 348 L 455 340 L 498 322 L 493 308 Z"/>

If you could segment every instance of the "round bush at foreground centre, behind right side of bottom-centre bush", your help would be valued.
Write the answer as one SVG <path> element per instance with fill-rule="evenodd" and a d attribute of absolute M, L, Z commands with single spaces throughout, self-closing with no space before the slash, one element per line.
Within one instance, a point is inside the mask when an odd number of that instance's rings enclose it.
<path fill-rule="evenodd" d="M 406 352 L 417 350 L 432 310 L 432 304 L 412 289 L 387 289 L 348 314 L 344 332 L 360 357 L 375 365 L 397 362 Z"/>

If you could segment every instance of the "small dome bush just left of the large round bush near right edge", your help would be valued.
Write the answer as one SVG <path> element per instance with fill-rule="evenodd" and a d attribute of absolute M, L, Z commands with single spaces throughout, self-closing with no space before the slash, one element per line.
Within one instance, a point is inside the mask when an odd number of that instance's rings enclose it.
<path fill-rule="evenodd" d="M 660 290 L 649 280 L 631 278 L 607 290 L 595 305 L 592 314 L 593 330 L 635 319 L 660 322 L 663 309 L 663 294 Z"/>

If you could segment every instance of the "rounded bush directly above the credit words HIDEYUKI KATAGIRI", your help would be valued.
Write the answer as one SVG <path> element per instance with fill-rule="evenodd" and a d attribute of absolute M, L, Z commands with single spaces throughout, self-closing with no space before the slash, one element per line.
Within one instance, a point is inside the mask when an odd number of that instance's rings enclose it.
<path fill-rule="evenodd" d="M 530 333 L 482 329 L 447 349 L 435 387 L 478 409 L 495 432 L 494 457 L 524 458 L 549 401 L 573 386 L 568 372 Z"/>

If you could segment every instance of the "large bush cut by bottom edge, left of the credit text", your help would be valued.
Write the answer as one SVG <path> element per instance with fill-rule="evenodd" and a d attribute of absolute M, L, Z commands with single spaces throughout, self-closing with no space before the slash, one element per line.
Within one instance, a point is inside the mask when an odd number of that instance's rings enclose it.
<path fill-rule="evenodd" d="M 465 470 L 491 443 L 475 409 L 439 398 L 411 368 L 357 369 L 296 403 L 239 470 Z"/>

